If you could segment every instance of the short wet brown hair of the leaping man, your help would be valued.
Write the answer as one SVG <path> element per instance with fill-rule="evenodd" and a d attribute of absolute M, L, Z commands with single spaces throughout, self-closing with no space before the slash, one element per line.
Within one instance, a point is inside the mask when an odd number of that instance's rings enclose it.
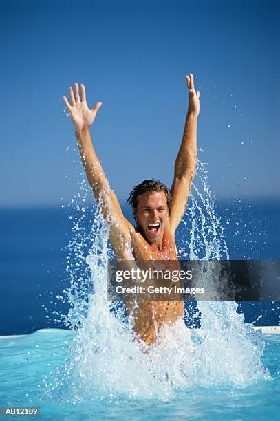
<path fill-rule="evenodd" d="M 133 187 L 133 189 L 131 190 L 129 194 L 129 198 L 127 199 L 127 204 L 130 204 L 133 208 L 137 208 L 138 196 L 147 192 L 159 193 L 160 191 L 163 191 L 163 193 L 166 195 L 167 207 L 170 211 L 171 202 L 172 202 L 171 191 L 168 187 L 165 186 L 165 184 L 162 184 L 160 181 L 154 180 L 154 179 L 144 180 L 142 183 Z"/>

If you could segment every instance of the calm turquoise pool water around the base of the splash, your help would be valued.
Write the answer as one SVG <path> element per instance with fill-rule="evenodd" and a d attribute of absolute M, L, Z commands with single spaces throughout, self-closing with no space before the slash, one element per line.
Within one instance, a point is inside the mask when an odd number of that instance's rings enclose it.
<path fill-rule="evenodd" d="M 85 391 L 83 399 L 75 396 L 63 376 L 73 332 L 40 330 L 21 338 L 4 338 L 0 341 L 0 402 L 1 406 L 38 406 L 43 420 L 279 420 L 280 335 L 264 334 L 263 341 L 261 362 L 268 367 L 270 378 L 253 380 L 245 387 L 227 382 L 202 387 L 194 379 L 193 385 L 175 388 L 170 398 L 136 398 L 114 391 L 111 396 L 100 393 L 99 398 L 90 398 Z M 240 358 L 241 354 L 240 349 Z M 120 370 L 126 370 L 122 361 Z"/>

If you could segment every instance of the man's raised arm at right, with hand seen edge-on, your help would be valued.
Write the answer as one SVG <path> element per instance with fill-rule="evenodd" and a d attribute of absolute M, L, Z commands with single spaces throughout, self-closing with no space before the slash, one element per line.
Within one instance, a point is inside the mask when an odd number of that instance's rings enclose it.
<path fill-rule="evenodd" d="M 173 234 L 184 215 L 197 162 L 197 117 L 200 114 L 200 92 L 195 91 L 193 74 L 186 76 L 186 82 L 189 88 L 189 109 L 186 114 L 182 143 L 175 160 L 174 179 L 171 186 L 173 200 L 170 210 L 170 227 Z"/>

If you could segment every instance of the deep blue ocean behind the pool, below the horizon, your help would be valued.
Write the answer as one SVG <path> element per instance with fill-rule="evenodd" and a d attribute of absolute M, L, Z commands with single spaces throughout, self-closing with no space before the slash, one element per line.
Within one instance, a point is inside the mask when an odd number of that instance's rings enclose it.
<path fill-rule="evenodd" d="M 133 221 L 130 208 L 123 209 Z M 219 200 L 215 212 L 225 228 L 230 259 L 279 260 L 280 200 Z M 65 327 L 57 314 L 67 314 L 69 304 L 58 297 L 70 284 L 67 244 L 77 215 L 69 207 L 0 210 L 0 335 Z M 89 211 L 86 216 L 89 228 L 92 215 Z M 188 241 L 184 224 L 176 240 L 178 246 Z M 89 250 L 90 241 L 86 248 Z M 279 302 L 239 303 L 238 311 L 255 325 L 279 325 Z"/>

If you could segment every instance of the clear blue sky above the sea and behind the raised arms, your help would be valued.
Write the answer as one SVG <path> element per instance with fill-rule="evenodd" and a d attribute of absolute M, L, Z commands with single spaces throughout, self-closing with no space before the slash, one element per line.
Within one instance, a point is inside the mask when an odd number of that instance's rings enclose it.
<path fill-rule="evenodd" d="M 189 72 L 213 193 L 280 197 L 279 1 L 0 1 L 0 21 L 1 207 L 78 190 L 61 99 L 76 81 L 103 101 L 92 135 L 120 201 L 145 178 L 170 185 Z"/>

